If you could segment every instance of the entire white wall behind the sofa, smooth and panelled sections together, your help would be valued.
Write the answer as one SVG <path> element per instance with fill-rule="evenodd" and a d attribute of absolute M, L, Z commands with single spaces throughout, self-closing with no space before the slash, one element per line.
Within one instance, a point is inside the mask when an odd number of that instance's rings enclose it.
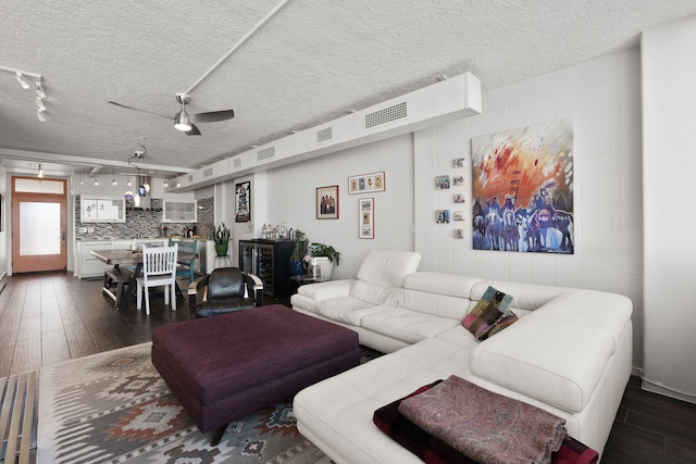
<path fill-rule="evenodd" d="M 335 246 L 344 261 L 336 277 L 353 277 L 369 249 L 418 250 L 420 269 L 483 278 L 607 290 L 634 303 L 634 366 L 643 359 L 643 213 L 641 61 L 637 48 L 559 70 L 484 95 L 480 116 L 443 124 L 377 143 L 268 173 L 268 217 Z M 485 83 L 484 83 L 485 84 Z M 471 138 L 496 130 L 570 117 L 575 137 L 575 254 L 472 250 Z M 464 170 L 452 168 L 465 158 Z M 347 178 L 386 173 L 375 198 L 375 240 L 358 238 L 358 198 Z M 435 176 L 462 174 L 467 203 L 464 240 L 435 223 L 453 210 L 453 190 L 436 190 Z M 340 186 L 340 218 L 314 218 L 314 189 Z M 459 209 L 459 208 L 457 208 Z M 345 264 L 344 264 L 345 263 Z"/>

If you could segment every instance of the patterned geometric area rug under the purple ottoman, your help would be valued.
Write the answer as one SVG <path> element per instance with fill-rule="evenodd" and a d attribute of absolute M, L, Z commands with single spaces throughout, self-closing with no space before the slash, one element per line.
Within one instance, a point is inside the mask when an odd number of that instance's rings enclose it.
<path fill-rule="evenodd" d="M 297 431 L 291 399 L 229 424 L 210 447 L 213 431 L 190 421 L 152 366 L 150 347 L 41 368 L 39 464 L 331 463 Z"/>

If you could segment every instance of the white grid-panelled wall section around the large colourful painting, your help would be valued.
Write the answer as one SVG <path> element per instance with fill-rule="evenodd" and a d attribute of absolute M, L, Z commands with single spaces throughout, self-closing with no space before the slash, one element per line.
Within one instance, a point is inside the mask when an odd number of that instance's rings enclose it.
<path fill-rule="evenodd" d="M 415 134 L 417 250 L 421 269 L 625 294 L 634 304 L 634 366 L 643 359 L 641 61 L 637 48 L 600 57 L 484 95 L 481 115 Z M 471 138 L 570 117 L 574 121 L 575 254 L 472 250 Z M 465 170 L 452 159 L 464 156 Z M 455 209 L 436 175 L 463 174 L 464 240 L 458 223 L 435 224 Z"/>

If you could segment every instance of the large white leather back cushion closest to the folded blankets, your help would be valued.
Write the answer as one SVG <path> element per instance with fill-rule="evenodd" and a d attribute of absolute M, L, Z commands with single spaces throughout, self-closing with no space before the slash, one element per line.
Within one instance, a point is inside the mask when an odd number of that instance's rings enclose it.
<path fill-rule="evenodd" d="M 472 351 L 471 372 L 579 413 L 595 391 L 616 343 L 606 330 L 591 325 L 579 330 L 577 324 L 535 311 L 481 342 Z"/>

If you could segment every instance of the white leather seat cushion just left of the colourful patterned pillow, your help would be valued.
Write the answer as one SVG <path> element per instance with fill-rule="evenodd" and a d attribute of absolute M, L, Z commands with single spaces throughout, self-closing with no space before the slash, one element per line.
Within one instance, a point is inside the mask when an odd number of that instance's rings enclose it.
<path fill-rule="evenodd" d="M 382 311 L 362 314 L 360 318 L 361 327 L 411 344 L 459 324 L 459 319 L 393 306 L 382 306 Z"/>

